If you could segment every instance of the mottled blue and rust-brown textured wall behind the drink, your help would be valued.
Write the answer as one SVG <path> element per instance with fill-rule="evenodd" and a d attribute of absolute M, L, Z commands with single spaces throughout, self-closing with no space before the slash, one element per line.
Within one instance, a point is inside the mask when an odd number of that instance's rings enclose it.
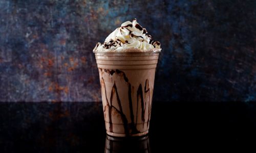
<path fill-rule="evenodd" d="M 100 101 L 92 50 L 126 20 L 161 42 L 155 101 L 256 100 L 256 1 L 0 1 L 1 101 Z"/>

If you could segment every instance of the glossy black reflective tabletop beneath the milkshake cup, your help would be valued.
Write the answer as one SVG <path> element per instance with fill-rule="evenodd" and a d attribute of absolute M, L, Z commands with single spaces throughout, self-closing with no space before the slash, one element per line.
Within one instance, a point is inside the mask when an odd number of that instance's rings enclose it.
<path fill-rule="evenodd" d="M 0 103 L 0 152 L 236 149 L 254 146 L 255 129 L 255 103 L 153 101 L 148 138 L 117 141 L 106 137 L 101 103 Z"/>

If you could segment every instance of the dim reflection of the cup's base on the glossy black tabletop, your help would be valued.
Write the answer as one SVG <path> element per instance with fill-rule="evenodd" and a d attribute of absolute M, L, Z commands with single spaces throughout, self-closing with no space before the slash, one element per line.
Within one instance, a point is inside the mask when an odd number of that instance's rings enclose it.
<path fill-rule="evenodd" d="M 118 138 L 106 136 L 105 152 L 151 152 L 148 136 L 141 138 Z"/>

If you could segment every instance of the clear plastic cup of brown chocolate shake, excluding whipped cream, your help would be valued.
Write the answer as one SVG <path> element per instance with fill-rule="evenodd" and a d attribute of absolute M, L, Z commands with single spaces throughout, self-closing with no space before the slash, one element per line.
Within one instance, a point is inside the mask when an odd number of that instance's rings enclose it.
<path fill-rule="evenodd" d="M 148 133 L 158 53 L 95 53 L 106 133 Z"/>

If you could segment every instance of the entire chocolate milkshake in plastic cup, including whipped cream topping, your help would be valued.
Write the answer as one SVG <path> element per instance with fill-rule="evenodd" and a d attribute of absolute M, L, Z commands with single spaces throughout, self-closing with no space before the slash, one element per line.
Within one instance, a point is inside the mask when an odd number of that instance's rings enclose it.
<path fill-rule="evenodd" d="M 160 51 L 160 43 L 136 19 L 124 22 L 94 48 L 108 135 L 148 133 Z"/>

